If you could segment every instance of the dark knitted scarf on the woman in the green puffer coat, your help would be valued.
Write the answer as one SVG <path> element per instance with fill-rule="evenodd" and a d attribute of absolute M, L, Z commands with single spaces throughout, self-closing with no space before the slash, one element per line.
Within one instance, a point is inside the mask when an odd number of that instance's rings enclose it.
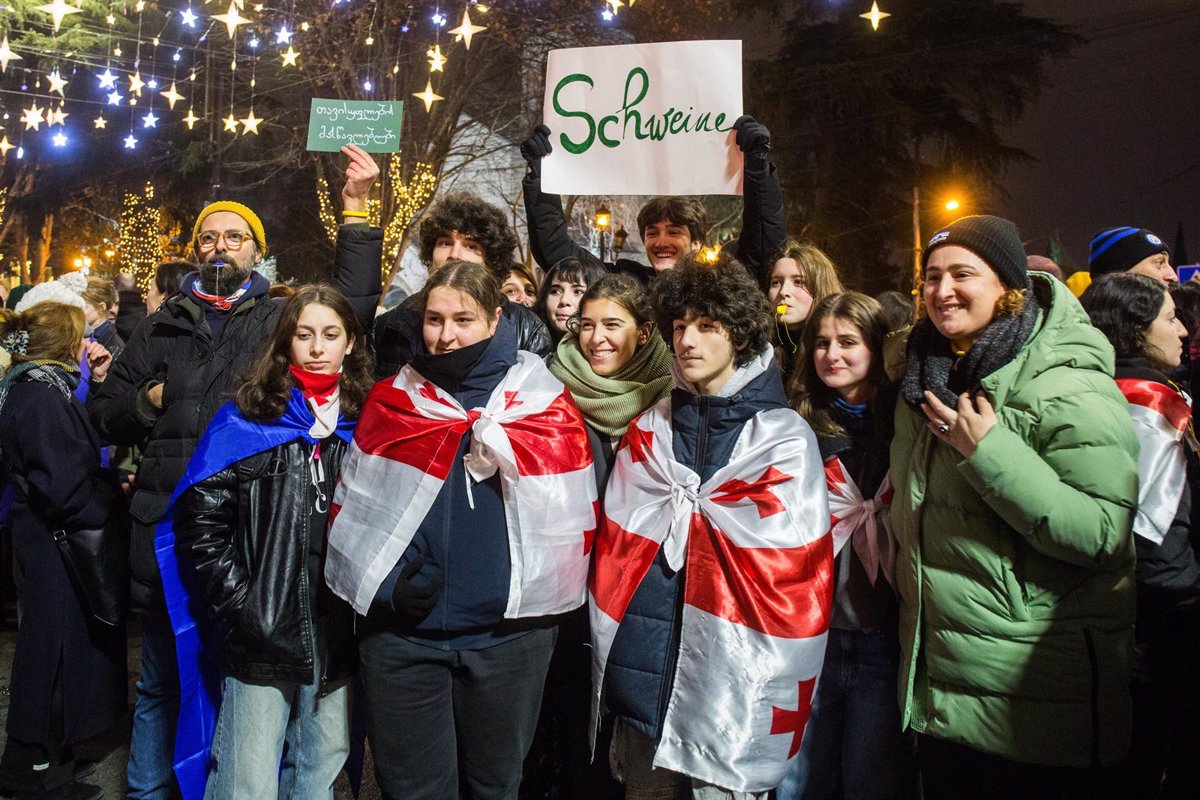
<path fill-rule="evenodd" d="M 1021 309 L 994 319 L 961 356 L 954 355 L 950 341 L 937 332 L 928 317 L 919 320 L 908 336 L 905 402 L 919 409 L 925 402 L 924 392 L 931 391 L 954 408 L 959 395 L 978 392 L 984 378 L 1009 363 L 1025 347 L 1037 324 L 1039 308 L 1034 293 L 1026 291 Z"/>

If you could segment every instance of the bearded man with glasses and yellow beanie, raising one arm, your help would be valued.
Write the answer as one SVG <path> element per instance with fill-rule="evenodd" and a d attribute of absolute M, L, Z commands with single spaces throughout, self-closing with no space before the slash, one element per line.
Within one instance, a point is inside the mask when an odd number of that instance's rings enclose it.
<path fill-rule="evenodd" d="M 383 231 L 364 224 L 367 193 L 379 168 L 359 148 L 342 188 L 331 283 L 367 326 L 379 300 Z M 144 443 L 145 458 L 130 506 L 132 600 L 142 615 L 142 675 L 137 685 L 128 798 L 174 796 L 172 760 L 179 715 L 179 675 L 154 553 L 155 528 L 167 510 L 197 441 L 238 379 L 270 338 L 283 301 L 254 271 L 266 255 L 263 223 L 251 209 L 223 200 L 200 211 L 192 231 L 197 271 L 138 324 L 88 409 L 101 438 Z"/>

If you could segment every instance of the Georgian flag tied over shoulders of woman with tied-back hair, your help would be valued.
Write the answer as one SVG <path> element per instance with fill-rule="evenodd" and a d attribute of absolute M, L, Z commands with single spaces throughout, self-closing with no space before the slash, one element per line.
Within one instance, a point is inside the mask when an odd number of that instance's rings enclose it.
<path fill-rule="evenodd" d="M 562 381 L 521 350 L 482 409 L 462 408 L 412 366 L 371 390 L 334 494 L 325 560 L 325 581 L 360 614 L 413 541 L 468 432 L 468 480 L 500 473 L 512 565 L 504 615 L 583 603 L 596 528 L 587 428 Z"/>

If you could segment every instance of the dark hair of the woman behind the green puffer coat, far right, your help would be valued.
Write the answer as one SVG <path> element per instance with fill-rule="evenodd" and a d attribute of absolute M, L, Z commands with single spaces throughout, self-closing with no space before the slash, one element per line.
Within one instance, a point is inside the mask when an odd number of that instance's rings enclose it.
<path fill-rule="evenodd" d="M 1092 281 L 1079 299 L 1084 311 L 1118 359 L 1145 357 L 1146 331 L 1163 311 L 1166 287 L 1133 272 L 1111 272 Z"/>

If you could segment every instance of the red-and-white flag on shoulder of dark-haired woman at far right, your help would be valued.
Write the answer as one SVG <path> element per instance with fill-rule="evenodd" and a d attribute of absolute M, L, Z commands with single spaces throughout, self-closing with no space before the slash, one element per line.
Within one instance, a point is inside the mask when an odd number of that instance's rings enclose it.
<path fill-rule="evenodd" d="M 1187 485 L 1184 439 L 1190 434 L 1192 402 L 1187 395 L 1157 380 L 1120 378 L 1117 387 L 1129 401 L 1138 435 L 1138 513 L 1133 530 L 1162 545 L 1175 519 Z"/>

